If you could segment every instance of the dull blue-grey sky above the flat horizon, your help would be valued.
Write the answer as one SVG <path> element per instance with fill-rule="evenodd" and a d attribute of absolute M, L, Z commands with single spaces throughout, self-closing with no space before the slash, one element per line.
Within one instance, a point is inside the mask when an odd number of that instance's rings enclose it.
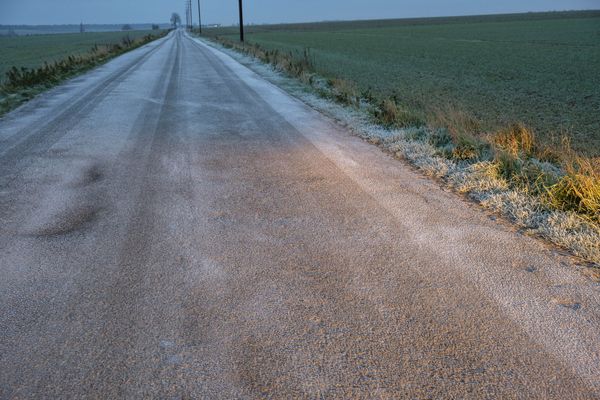
<path fill-rule="evenodd" d="M 196 4 L 194 13 L 196 21 Z M 232 24 L 237 0 L 200 0 L 204 23 Z M 254 23 L 600 9 L 600 0 L 244 0 Z M 0 0 L 0 24 L 167 22 L 184 0 Z"/>

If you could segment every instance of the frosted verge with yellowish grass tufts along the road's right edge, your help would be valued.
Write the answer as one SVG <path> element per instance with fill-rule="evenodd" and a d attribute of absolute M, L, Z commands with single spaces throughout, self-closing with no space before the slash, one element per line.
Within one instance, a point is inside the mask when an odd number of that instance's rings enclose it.
<path fill-rule="evenodd" d="M 587 202 L 576 194 L 582 182 L 592 191 L 599 182 L 600 175 L 591 161 L 585 164 L 588 161 L 574 154 L 567 158 L 568 163 L 557 159 L 554 152 L 536 145 L 534 135 L 518 124 L 487 138 L 425 125 L 418 116 L 403 115 L 397 104 L 381 104 L 357 94 L 352 83 L 318 76 L 312 72 L 309 54 L 294 59 L 256 45 L 212 43 L 308 105 L 350 127 L 356 135 L 408 161 L 425 175 L 504 215 L 529 233 L 600 264 L 600 209 L 593 198 L 597 193 L 588 193 Z M 388 112 L 392 117 L 378 115 Z M 396 114 L 400 115 L 401 123 L 393 118 Z M 578 167 L 578 163 L 583 163 L 584 168 Z M 556 204 L 552 199 L 552 191 L 558 191 L 557 185 L 567 179 L 573 207 Z"/>

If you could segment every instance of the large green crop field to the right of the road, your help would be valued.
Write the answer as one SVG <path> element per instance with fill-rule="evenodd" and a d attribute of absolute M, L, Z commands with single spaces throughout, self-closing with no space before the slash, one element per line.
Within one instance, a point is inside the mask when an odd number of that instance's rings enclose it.
<path fill-rule="evenodd" d="M 424 115 L 460 110 L 484 130 L 523 122 L 600 155 L 600 11 L 256 26 L 247 40 L 309 48 L 321 75 Z"/>

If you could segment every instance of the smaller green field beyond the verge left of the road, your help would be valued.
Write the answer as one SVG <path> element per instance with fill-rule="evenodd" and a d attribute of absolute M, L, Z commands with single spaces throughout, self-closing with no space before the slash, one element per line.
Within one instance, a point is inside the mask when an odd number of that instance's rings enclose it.
<path fill-rule="evenodd" d="M 143 37 L 152 31 L 70 33 L 56 35 L 0 36 L 0 77 L 13 66 L 37 68 L 44 62 L 84 54 L 95 45 L 119 43 L 124 36 Z"/>

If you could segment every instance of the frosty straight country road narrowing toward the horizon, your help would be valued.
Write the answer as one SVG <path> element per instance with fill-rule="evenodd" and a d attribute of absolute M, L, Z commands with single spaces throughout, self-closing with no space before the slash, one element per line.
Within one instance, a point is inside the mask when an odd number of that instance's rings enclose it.
<path fill-rule="evenodd" d="M 600 287 L 181 31 L 0 120 L 0 398 L 600 398 Z"/>

